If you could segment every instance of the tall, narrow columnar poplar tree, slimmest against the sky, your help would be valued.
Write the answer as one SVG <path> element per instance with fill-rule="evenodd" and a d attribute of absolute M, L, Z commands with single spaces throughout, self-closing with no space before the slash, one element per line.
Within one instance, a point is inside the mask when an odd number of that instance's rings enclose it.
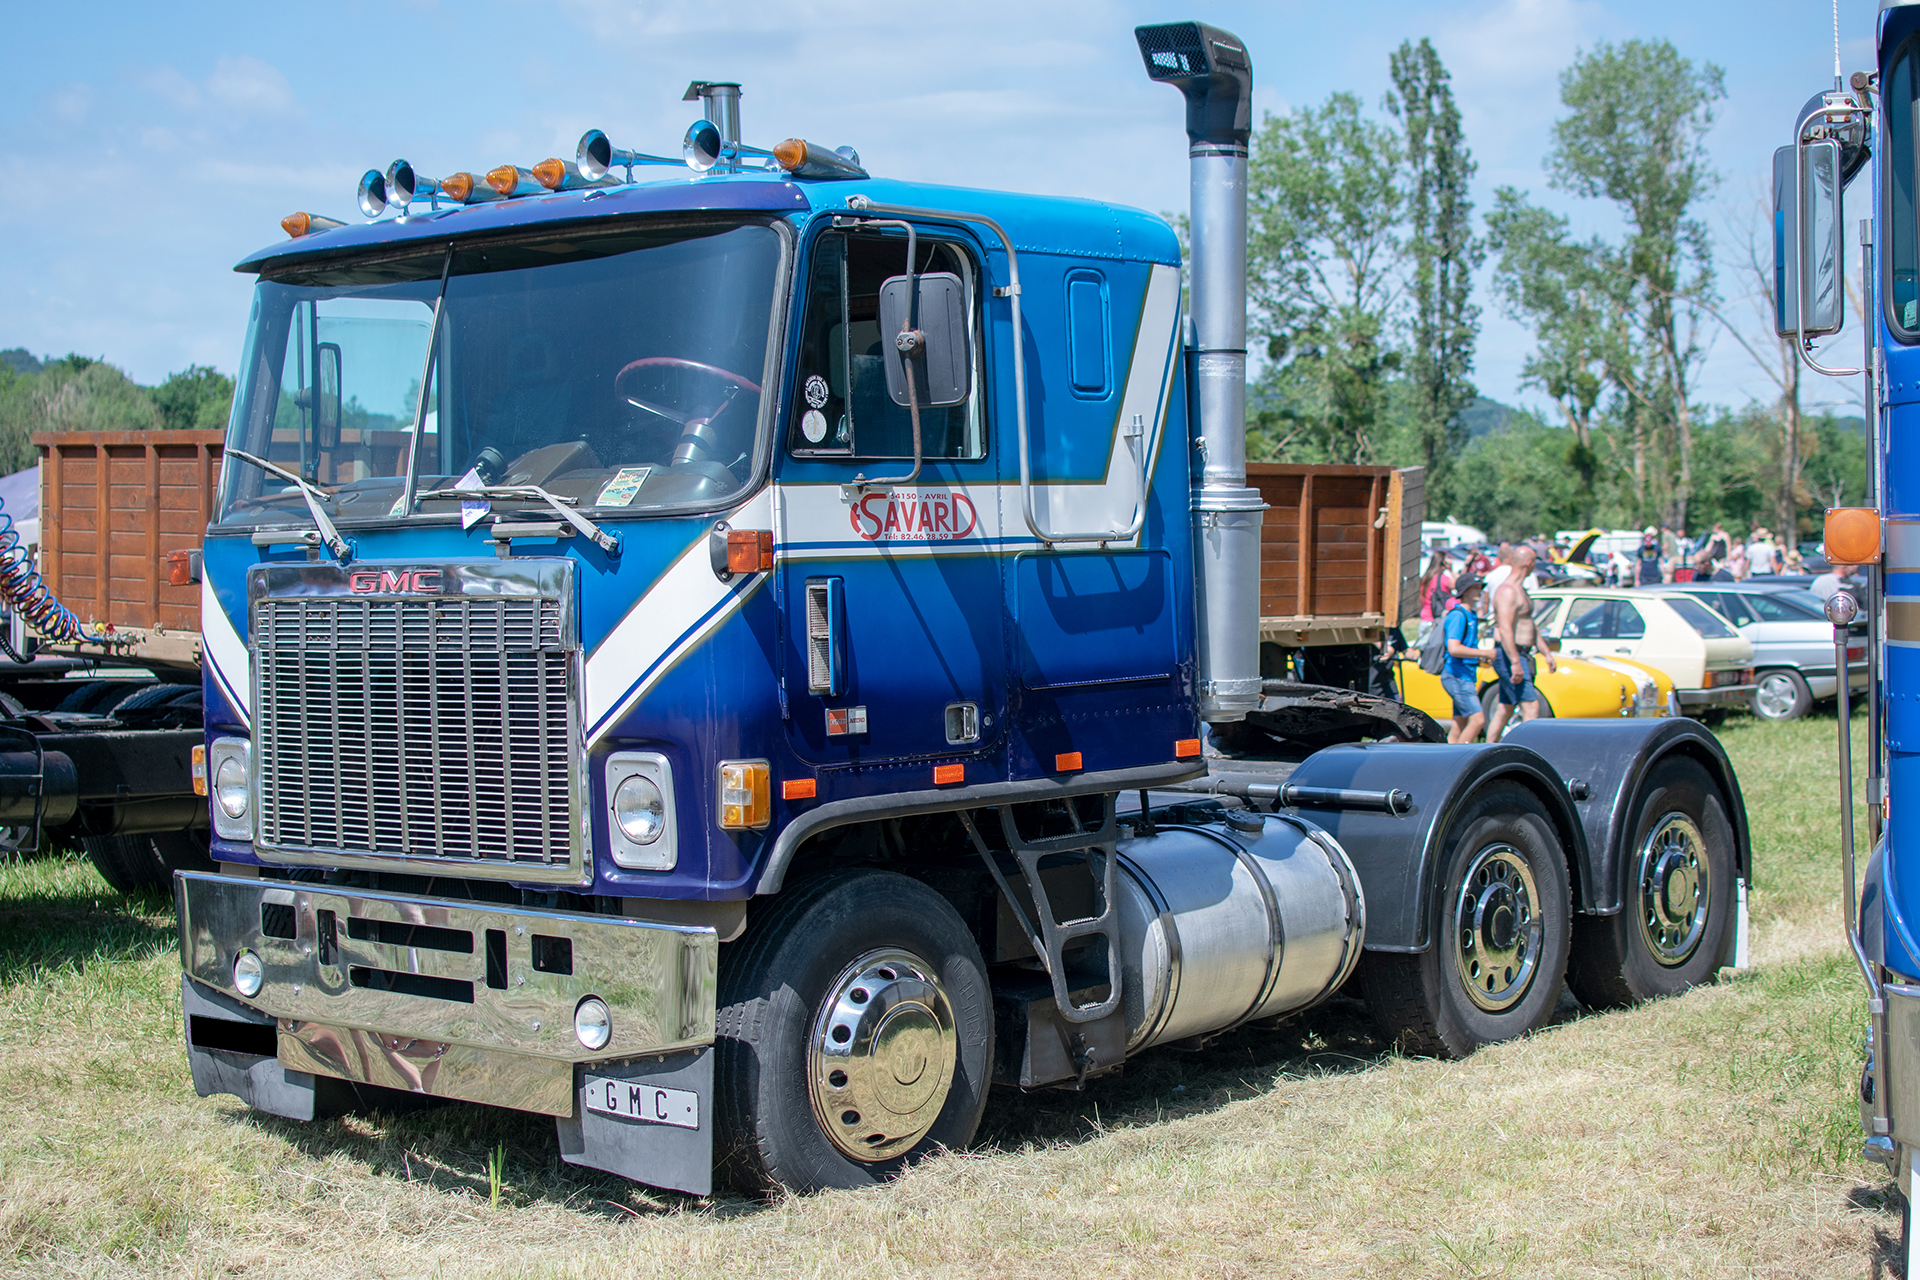
<path fill-rule="evenodd" d="M 1473 234 L 1467 190 L 1478 165 L 1459 127 L 1452 75 L 1425 36 L 1392 58 L 1388 109 L 1400 119 L 1407 167 L 1407 255 L 1413 261 L 1411 349 L 1413 430 L 1430 493 L 1446 495 L 1453 455 L 1467 443 L 1461 411 L 1476 391 L 1473 345 L 1480 309 L 1473 273 L 1486 249 Z"/>

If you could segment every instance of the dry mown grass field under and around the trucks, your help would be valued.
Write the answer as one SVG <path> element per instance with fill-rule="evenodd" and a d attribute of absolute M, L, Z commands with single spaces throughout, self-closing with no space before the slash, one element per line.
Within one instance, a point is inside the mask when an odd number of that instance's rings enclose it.
<path fill-rule="evenodd" d="M 1396 1057 L 1332 1004 L 1083 1094 L 996 1094 L 972 1151 L 772 1203 L 589 1174 L 551 1123 L 480 1107 L 290 1125 L 196 1098 L 169 904 L 84 862 L 0 865 L 0 1272 L 1885 1274 L 1834 729 L 1722 731 L 1753 971 L 1624 1013 L 1569 1000 L 1459 1063 Z"/>

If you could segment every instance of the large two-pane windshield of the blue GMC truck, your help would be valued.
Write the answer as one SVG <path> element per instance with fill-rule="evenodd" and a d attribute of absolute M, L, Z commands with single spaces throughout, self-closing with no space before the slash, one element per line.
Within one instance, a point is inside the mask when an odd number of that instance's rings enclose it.
<path fill-rule="evenodd" d="M 772 225 L 708 223 L 261 280 L 227 445 L 326 489 L 340 524 L 455 518 L 455 486 L 722 505 L 764 453 L 781 255 Z M 311 522 L 284 478 L 223 468 L 221 524 Z"/>

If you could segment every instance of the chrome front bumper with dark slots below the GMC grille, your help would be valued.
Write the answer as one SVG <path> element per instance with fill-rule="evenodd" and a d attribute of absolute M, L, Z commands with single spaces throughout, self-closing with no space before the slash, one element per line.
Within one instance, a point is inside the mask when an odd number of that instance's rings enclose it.
<path fill-rule="evenodd" d="M 175 894 L 186 977 L 271 1017 L 290 1071 L 572 1115 L 576 1063 L 714 1036 L 712 929 L 200 873 Z M 574 1036 L 588 996 L 612 1011 L 601 1050 Z"/>

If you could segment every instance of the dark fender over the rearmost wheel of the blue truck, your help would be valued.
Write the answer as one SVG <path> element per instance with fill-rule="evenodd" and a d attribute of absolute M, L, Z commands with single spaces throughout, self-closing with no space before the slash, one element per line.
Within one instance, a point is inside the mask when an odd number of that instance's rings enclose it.
<path fill-rule="evenodd" d="M 1567 779 L 1567 787 L 1582 793 L 1576 800 L 1586 844 L 1592 850 L 1582 867 L 1578 889 L 1582 912 L 1613 915 L 1620 910 L 1620 864 L 1632 850 L 1640 821 L 1640 798 L 1647 775 L 1668 756 L 1688 756 L 1707 770 L 1720 789 L 1720 804 L 1734 823 L 1734 864 L 1741 879 L 1749 879 L 1753 846 L 1747 835 L 1747 804 L 1740 794 L 1740 779 L 1720 747 L 1720 739 L 1697 720 L 1684 716 L 1661 720 L 1528 720 L 1507 735 L 1544 756 Z"/>

